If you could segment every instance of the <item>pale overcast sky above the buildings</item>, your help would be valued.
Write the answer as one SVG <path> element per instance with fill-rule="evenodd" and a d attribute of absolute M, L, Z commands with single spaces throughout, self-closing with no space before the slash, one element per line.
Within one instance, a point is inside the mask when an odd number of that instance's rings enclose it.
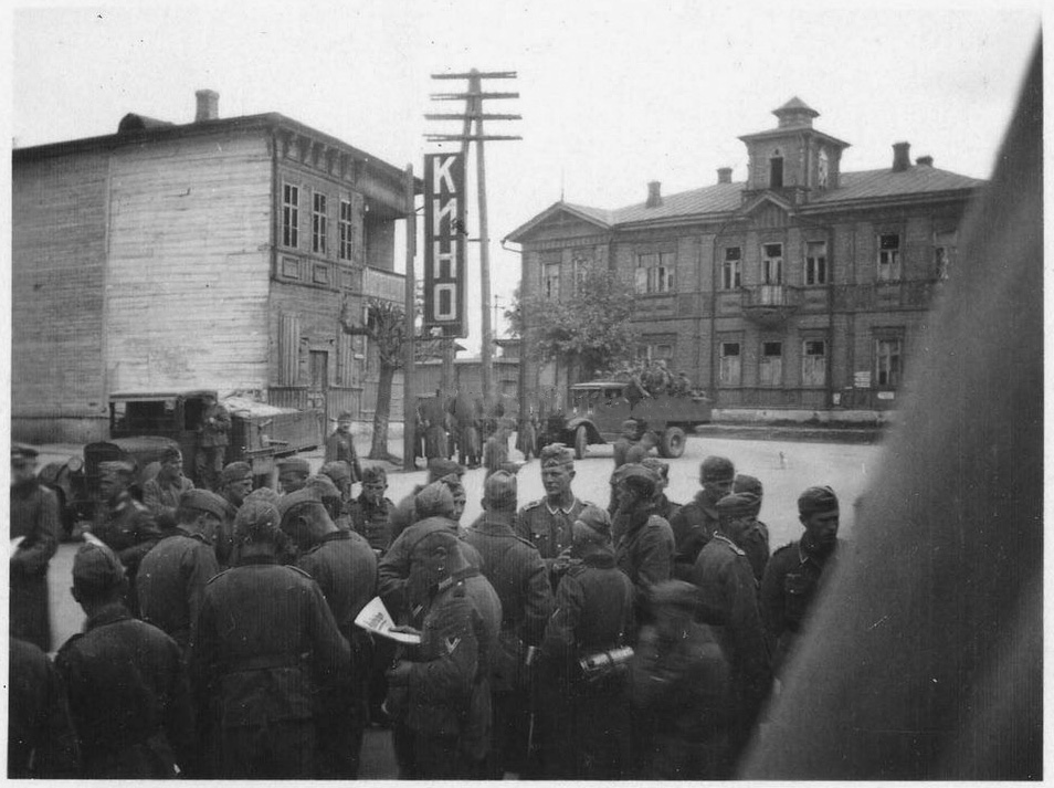
<path fill-rule="evenodd" d="M 398 167 L 424 141 L 430 74 L 516 71 L 488 103 L 523 120 L 489 132 L 493 292 L 519 256 L 500 240 L 560 198 L 599 208 L 746 176 L 737 137 L 776 125 L 798 95 L 815 126 L 852 144 L 844 170 L 886 167 L 892 144 L 986 178 L 1040 29 L 1040 4 L 491 0 L 424 2 L 20 3 L 13 12 L 10 136 L 19 146 L 113 134 L 126 113 L 175 123 L 194 91 L 221 117 L 278 112 Z M 493 106 L 492 106 L 493 105 Z M 446 124 L 454 129 L 457 124 Z M 470 164 L 474 172 L 474 166 Z M 474 208 L 471 206 L 471 208 Z M 472 211 L 474 214 L 474 210 Z M 475 219 L 470 229 L 475 235 Z M 402 260 L 397 260 L 401 267 Z M 421 263 L 418 263 L 418 271 Z M 478 267 L 470 262 L 478 346 Z M 473 295 L 475 291 L 475 295 Z M 503 305 L 505 302 L 503 302 Z"/>

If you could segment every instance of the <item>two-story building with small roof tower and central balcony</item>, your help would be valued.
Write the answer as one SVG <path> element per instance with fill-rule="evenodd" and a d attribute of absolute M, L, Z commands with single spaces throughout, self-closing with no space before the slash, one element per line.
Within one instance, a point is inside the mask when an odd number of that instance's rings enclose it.
<path fill-rule="evenodd" d="M 566 298 L 599 266 L 639 294 L 639 353 L 665 359 L 726 409 L 896 407 L 957 233 L 983 181 L 913 164 L 842 171 L 849 144 L 813 127 L 793 98 L 776 128 L 740 137 L 745 182 L 717 182 L 604 210 L 563 201 L 508 235 L 523 246 L 521 293 Z M 530 346 L 527 316 L 525 346 Z M 525 388 L 566 403 L 559 364 L 523 361 Z"/>

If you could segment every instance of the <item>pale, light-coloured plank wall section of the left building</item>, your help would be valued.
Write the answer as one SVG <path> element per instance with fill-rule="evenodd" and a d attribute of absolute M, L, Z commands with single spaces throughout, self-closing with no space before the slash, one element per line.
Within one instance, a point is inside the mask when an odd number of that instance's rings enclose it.
<path fill-rule="evenodd" d="M 114 154 L 110 391 L 266 387 L 271 166 L 263 134 Z"/>

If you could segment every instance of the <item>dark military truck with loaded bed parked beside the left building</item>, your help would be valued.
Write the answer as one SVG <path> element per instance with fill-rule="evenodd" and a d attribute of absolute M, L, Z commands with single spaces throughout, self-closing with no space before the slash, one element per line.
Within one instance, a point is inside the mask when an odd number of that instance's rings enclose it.
<path fill-rule="evenodd" d="M 98 465 L 110 460 L 136 466 L 133 492 L 157 474 L 165 450 L 177 448 L 183 473 L 194 483 L 198 432 L 205 396 L 215 391 L 113 395 L 109 398 L 110 440 L 88 443 L 84 456 L 72 456 L 41 469 L 41 481 L 59 495 L 63 526 L 92 519 L 98 502 Z M 253 470 L 254 486 L 274 485 L 275 460 L 310 451 L 325 441 L 325 414 L 256 402 L 244 397 L 219 400 L 231 414 L 230 445 L 224 463 L 244 461 Z"/>

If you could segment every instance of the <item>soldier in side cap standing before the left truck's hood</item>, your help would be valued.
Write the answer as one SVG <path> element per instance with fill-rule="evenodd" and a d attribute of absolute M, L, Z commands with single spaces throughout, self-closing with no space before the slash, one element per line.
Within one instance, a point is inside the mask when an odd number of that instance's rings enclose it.
<path fill-rule="evenodd" d="M 161 530 L 150 509 L 136 501 L 128 490 L 135 473 L 131 463 L 101 462 L 98 473 L 101 503 L 91 530 L 120 558 L 128 575 L 125 602 L 133 616 L 138 616 L 136 574 L 143 557 L 161 538 Z"/>

